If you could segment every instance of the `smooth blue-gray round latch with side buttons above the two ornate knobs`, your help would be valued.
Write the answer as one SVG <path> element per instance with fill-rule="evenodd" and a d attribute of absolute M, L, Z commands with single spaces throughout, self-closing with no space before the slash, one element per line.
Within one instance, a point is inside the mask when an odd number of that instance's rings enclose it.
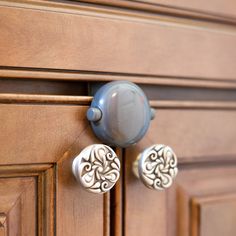
<path fill-rule="evenodd" d="M 154 110 L 140 87 L 129 81 L 115 81 L 96 92 L 87 118 L 103 143 L 127 147 L 146 134 Z"/>

